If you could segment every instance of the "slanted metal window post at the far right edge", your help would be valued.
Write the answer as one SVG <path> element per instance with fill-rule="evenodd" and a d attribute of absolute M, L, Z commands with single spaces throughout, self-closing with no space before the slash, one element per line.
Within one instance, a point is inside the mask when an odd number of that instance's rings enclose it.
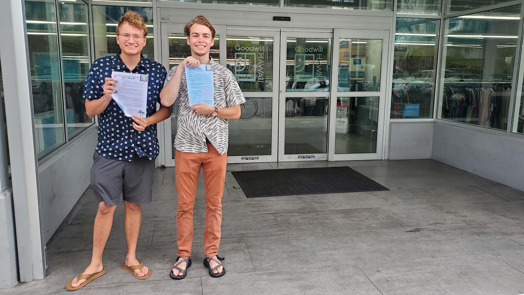
<path fill-rule="evenodd" d="M 513 63 L 513 81 L 511 81 L 511 96 L 509 101 L 509 111 L 508 111 L 508 126 L 506 128 L 506 133 L 509 135 L 513 132 L 513 127 L 516 127 L 518 124 L 518 119 L 515 120 L 515 114 L 518 116 L 516 102 L 517 95 L 522 95 L 522 19 L 524 18 L 524 9 L 522 5 L 520 6 L 520 19 L 518 27 L 518 37 L 517 37 L 517 47 L 515 50 L 515 61 Z M 517 118 L 517 117 L 515 117 Z"/>

